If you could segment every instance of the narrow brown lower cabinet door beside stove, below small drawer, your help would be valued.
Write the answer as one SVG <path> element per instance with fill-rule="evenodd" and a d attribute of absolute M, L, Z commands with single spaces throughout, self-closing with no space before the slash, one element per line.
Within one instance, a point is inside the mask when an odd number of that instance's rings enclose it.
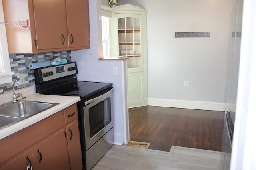
<path fill-rule="evenodd" d="M 83 167 L 78 121 L 75 121 L 68 125 L 66 127 L 66 132 L 71 170 L 81 170 Z"/>

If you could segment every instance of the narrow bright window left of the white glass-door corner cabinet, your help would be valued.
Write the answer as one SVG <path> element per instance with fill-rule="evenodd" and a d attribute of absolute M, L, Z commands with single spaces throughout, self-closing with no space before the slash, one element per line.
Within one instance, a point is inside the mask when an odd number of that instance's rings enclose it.
<path fill-rule="evenodd" d="M 101 17 L 103 57 L 110 57 L 110 18 Z"/>

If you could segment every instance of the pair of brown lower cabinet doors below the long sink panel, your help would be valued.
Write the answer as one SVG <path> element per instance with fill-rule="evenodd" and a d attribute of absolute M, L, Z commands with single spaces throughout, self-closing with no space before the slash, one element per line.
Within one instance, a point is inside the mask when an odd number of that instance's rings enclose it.
<path fill-rule="evenodd" d="M 27 158 L 29 158 L 32 168 L 35 170 L 69 170 L 70 166 L 64 129 L 38 144 L 38 146 L 30 149 L 28 152 L 18 156 L 18 158 L 0 170 L 25 170 L 29 165 Z"/>

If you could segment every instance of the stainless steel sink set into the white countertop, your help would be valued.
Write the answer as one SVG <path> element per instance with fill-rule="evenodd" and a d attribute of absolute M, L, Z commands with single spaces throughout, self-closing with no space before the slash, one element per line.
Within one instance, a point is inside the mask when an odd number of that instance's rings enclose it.
<path fill-rule="evenodd" d="M 14 122 L 22 121 L 36 115 L 46 109 L 50 109 L 58 103 L 45 103 L 36 101 L 19 101 L 17 103 L 5 103 L 0 107 L 0 129 Z"/>

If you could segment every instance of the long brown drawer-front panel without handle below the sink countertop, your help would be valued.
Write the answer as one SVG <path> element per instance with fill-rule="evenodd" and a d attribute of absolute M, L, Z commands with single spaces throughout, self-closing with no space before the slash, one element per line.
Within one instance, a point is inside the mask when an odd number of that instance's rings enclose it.
<path fill-rule="evenodd" d="M 1 140 L 0 150 L 1 153 L 4 154 L 0 154 L 0 166 L 7 159 L 15 156 L 55 130 L 62 128 L 64 125 L 62 115 L 63 111 L 58 112 L 49 118 L 39 121 L 38 123 L 24 128 L 23 130 Z"/>

